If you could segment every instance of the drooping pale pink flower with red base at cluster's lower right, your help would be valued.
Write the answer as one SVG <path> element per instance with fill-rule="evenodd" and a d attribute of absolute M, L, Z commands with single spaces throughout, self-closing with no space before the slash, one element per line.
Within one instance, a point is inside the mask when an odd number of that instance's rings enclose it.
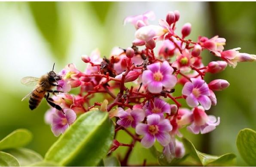
<path fill-rule="evenodd" d="M 202 106 L 198 106 L 193 108 L 193 123 L 187 127 L 187 129 L 194 134 L 208 133 L 216 129 L 216 126 L 219 125 L 220 118 L 216 119 L 213 115 L 207 115 L 204 112 L 204 108 Z"/>

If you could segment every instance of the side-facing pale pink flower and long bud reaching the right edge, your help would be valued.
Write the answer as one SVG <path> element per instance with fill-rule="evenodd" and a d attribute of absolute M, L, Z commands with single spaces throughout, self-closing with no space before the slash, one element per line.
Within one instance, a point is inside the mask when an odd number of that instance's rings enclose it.
<path fill-rule="evenodd" d="M 235 48 L 231 50 L 226 50 L 221 53 L 221 59 L 225 60 L 230 66 L 236 67 L 237 62 L 255 62 L 256 55 L 251 55 L 248 53 L 239 53 L 238 50 L 241 48 Z"/>

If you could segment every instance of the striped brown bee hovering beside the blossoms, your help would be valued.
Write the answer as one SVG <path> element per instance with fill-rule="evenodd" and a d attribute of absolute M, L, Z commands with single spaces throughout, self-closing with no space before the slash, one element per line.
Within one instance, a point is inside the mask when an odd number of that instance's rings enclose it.
<path fill-rule="evenodd" d="M 55 93 L 62 92 L 62 91 L 52 90 L 54 86 L 61 87 L 61 85 L 58 85 L 58 81 L 62 79 L 60 75 L 56 74 L 53 71 L 54 65 L 55 63 L 53 64 L 52 70 L 49 73 L 46 73 L 40 78 L 27 76 L 21 79 L 22 84 L 26 86 L 35 86 L 35 88 L 21 100 L 23 101 L 24 99 L 29 97 L 28 102 L 29 102 L 29 108 L 31 110 L 34 110 L 35 108 L 37 108 L 37 106 L 40 104 L 43 97 L 45 97 L 49 105 L 63 112 L 61 106 L 53 103 L 52 98 L 49 98 L 50 93 L 55 94 Z"/>

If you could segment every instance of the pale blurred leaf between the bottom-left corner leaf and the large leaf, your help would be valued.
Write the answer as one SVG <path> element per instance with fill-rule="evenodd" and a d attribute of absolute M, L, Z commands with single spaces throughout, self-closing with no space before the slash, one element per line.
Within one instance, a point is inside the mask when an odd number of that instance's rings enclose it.
<path fill-rule="evenodd" d="M 43 161 L 43 157 L 31 149 L 18 148 L 18 149 L 6 149 L 4 151 L 8 152 L 9 154 L 17 158 L 21 166 L 27 166 L 39 161 Z"/>

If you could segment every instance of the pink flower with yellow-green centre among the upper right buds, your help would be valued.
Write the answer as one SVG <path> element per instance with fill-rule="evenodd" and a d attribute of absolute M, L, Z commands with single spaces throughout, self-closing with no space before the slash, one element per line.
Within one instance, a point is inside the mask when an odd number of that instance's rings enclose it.
<path fill-rule="evenodd" d="M 191 56 L 189 50 L 185 49 L 182 54 L 177 56 L 175 62 L 173 62 L 172 67 L 176 67 L 181 72 L 189 72 L 191 70 L 191 65 L 195 62 L 195 58 Z"/>

